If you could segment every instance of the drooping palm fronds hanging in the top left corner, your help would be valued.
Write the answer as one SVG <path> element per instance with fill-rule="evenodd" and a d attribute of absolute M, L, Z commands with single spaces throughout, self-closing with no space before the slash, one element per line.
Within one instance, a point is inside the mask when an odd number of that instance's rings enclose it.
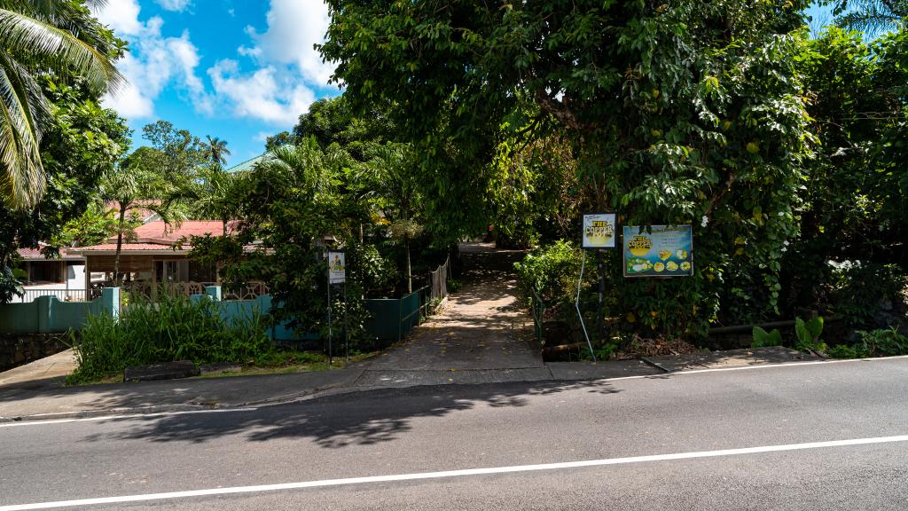
<path fill-rule="evenodd" d="M 21 209 L 44 195 L 39 146 L 52 115 L 37 75 L 81 77 L 100 95 L 123 83 L 119 52 L 84 5 L 0 0 L 0 202 Z"/>

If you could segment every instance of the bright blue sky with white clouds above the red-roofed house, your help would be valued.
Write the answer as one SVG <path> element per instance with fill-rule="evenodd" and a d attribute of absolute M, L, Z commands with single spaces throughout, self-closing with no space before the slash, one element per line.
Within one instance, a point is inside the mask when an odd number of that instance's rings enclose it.
<path fill-rule="evenodd" d="M 227 165 L 264 152 L 316 99 L 339 95 L 312 45 L 328 27 L 322 0 L 108 0 L 95 12 L 129 43 L 128 85 L 104 97 L 143 145 L 164 119 L 227 141 Z"/>

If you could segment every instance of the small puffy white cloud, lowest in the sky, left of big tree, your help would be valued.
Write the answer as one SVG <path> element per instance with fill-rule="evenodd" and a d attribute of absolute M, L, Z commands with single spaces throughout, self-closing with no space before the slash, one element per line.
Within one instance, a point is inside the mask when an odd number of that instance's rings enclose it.
<path fill-rule="evenodd" d="M 219 61 L 208 75 L 219 99 L 232 104 L 234 115 L 252 117 L 275 124 L 293 124 L 315 101 L 312 91 L 294 84 L 272 66 L 252 75 L 243 75 L 236 61 Z"/>

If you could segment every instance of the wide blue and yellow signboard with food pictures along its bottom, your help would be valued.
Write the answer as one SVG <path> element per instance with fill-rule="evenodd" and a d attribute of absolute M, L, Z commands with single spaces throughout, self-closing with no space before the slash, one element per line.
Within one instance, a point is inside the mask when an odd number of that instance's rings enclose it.
<path fill-rule="evenodd" d="M 693 276 L 694 234 L 690 225 L 624 228 L 625 276 Z"/>

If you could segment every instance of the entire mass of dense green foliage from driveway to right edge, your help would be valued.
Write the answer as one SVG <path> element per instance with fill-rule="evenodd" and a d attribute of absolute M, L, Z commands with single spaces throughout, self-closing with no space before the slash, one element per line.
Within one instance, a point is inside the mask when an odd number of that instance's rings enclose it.
<path fill-rule="evenodd" d="M 826 4 L 844 25 L 903 8 Z M 426 215 L 455 226 L 433 235 L 550 244 L 590 211 L 693 225 L 693 278 L 626 279 L 607 255 L 607 314 L 644 335 L 901 310 L 903 30 L 809 39 L 807 2 L 329 5 L 322 54 L 347 105 L 414 146 Z M 518 271 L 543 292 L 578 263 L 553 245 Z"/>

